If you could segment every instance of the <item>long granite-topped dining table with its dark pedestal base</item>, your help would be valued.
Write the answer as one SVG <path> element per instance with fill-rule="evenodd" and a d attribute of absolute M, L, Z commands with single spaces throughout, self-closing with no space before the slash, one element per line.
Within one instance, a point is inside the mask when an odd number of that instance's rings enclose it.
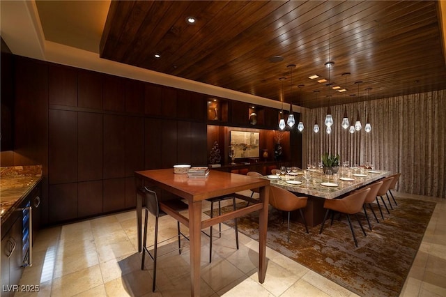
<path fill-rule="evenodd" d="M 307 169 L 308 170 L 308 169 Z M 272 186 L 284 188 L 295 192 L 299 196 L 307 196 L 307 206 L 304 214 L 310 227 L 321 224 L 325 210 L 325 199 L 335 199 L 348 194 L 353 190 L 378 181 L 390 174 L 385 170 L 372 170 L 361 168 L 339 168 L 337 180 L 334 176 L 325 176 L 322 169 L 309 169 L 311 177 L 309 182 L 304 178 L 302 170 L 295 175 L 265 176 L 270 179 Z"/>

